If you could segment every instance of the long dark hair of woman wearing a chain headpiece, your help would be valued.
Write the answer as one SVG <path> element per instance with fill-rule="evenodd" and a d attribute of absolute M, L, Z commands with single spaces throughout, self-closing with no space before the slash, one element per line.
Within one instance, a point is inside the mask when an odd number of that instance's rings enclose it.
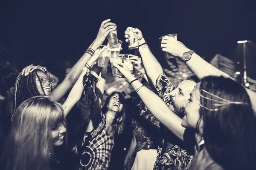
<path fill-rule="evenodd" d="M 228 101 L 241 102 L 214 111 L 200 107 L 203 138 L 209 155 L 224 169 L 256 167 L 256 115 L 245 88 L 230 78 L 209 76 L 202 79 L 200 89 Z M 205 92 L 200 93 L 214 98 Z M 213 101 L 207 98 L 201 97 L 201 104 L 212 105 Z"/>

